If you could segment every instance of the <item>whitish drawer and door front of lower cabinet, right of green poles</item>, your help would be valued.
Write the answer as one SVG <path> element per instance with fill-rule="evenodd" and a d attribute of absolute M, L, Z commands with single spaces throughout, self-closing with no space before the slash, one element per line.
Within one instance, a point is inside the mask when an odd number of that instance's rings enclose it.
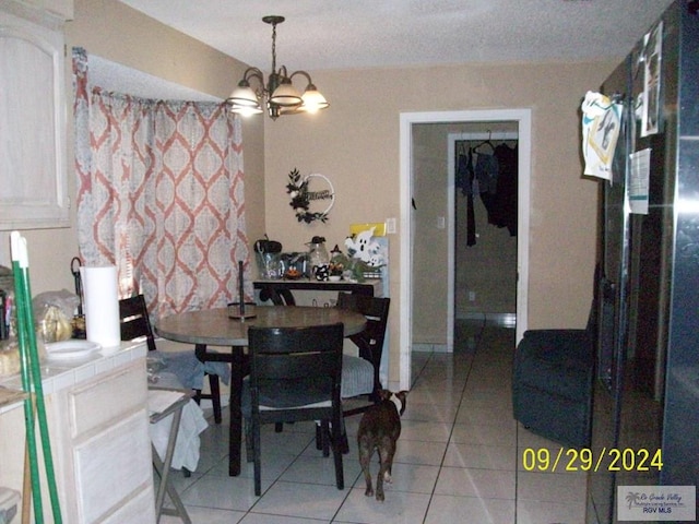
<path fill-rule="evenodd" d="M 52 433 L 62 477 L 63 521 L 155 522 L 145 365 L 128 366 L 58 392 Z"/>

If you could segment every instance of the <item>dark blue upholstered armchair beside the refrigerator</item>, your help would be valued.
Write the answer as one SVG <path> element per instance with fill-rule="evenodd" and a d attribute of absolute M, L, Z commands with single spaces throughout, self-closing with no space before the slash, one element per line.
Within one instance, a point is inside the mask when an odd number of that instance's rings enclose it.
<path fill-rule="evenodd" d="M 565 445 L 590 445 L 595 320 L 593 307 L 584 330 L 526 331 L 514 353 L 514 418 Z"/>

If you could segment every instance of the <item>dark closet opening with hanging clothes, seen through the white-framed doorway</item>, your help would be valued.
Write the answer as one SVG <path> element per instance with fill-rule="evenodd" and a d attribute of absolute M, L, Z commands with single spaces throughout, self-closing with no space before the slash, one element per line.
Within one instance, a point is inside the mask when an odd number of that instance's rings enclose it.
<path fill-rule="evenodd" d="M 465 131 L 467 129 L 467 131 Z M 449 140 L 454 320 L 517 322 L 517 122 L 470 122 Z"/>

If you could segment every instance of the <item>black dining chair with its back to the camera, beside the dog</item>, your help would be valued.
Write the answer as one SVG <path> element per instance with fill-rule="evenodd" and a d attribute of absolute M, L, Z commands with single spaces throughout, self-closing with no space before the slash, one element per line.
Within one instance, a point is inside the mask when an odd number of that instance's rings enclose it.
<path fill-rule="evenodd" d="M 323 456 L 332 448 L 335 484 L 344 489 L 340 449 L 343 331 L 342 323 L 248 330 L 250 376 L 244 380 L 241 409 L 256 496 L 261 493 L 261 426 L 300 420 L 320 421 Z"/>

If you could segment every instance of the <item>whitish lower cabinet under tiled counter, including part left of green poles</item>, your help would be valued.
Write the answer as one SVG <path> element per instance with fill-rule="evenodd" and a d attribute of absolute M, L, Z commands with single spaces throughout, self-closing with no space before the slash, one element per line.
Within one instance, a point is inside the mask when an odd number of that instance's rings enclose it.
<path fill-rule="evenodd" d="M 44 388 L 62 522 L 155 523 L 145 347 L 49 374 Z M 24 434 L 22 404 L 0 410 L 0 486 L 16 491 Z M 51 523 L 42 456 L 39 469 L 44 522 Z"/>

